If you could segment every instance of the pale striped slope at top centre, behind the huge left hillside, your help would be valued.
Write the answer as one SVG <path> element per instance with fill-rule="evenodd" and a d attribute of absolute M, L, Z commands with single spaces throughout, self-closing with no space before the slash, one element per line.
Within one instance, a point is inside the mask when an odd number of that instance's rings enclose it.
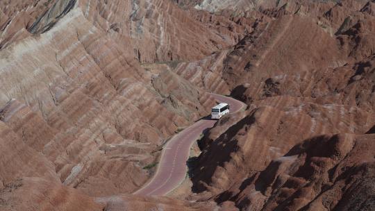
<path fill-rule="evenodd" d="M 79 6 L 94 26 L 123 44 L 140 62 L 197 60 L 234 44 L 194 21 L 172 1 L 86 0 Z"/>

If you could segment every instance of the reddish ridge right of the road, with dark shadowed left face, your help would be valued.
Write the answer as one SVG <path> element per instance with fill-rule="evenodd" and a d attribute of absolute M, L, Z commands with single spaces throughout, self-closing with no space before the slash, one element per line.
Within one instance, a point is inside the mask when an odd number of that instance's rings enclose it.
<path fill-rule="evenodd" d="M 262 107 L 249 111 L 219 137 L 214 132 L 203 140 L 207 147 L 193 172 L 194 191 L 224 191 L 264 169 L 301 140 L 325 133 L 366 133 L 375 122 L 374 112 L 358 108 L 316 103 L 296 108 L 299 99 L 275 97 L 274 101 L 278 103 L 265 101 Z M 295 130 L 299 133 L 292 132 Z"/>

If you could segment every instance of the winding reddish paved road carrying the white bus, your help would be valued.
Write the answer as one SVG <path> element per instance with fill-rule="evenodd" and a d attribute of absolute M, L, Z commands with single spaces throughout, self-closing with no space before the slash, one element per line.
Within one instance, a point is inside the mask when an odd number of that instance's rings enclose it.
<path fill-rule="evenodd" d="M 227 96 L 211 94 L 217 101 L 228 103 L 231 113 L 238 112 L 244 106 L 241 101 Z M 149 196 L 163 196 L 180 185 L 185 179 L 188 167 L 190 148 L 197 141 L 199 135 L 212 128 L 216 120 L 201 119 L 192 126 L 174 136 L 163 148 L 163 153 L 158 164 L 158 169 L 153 178 L 134 194 Z"/>

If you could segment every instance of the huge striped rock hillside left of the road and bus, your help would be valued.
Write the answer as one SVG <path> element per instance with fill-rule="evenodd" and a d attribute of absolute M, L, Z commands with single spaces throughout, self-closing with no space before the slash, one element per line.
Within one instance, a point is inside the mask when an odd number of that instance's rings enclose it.
<path fill-rule="evenodd" d="M 117 8 L 132 9 L 121 3 Z M 14 4 L 3 2 L 1 13 L 9 18 L 3 23 L 0 52 L 4 185 L 40 177 L 88 196 L 131 193 L 149 178 L 151 171 L 143 168 L 156 162 L 160 145 L 207 115 L 215 103 L 170 69 L 156 73 L 141 67 L 128 42 L 97 17 L 115 5 Z M 148 47 L 147 38 L 141 40 Z M 163 59 L 163 51 L 147 55 Z"/>

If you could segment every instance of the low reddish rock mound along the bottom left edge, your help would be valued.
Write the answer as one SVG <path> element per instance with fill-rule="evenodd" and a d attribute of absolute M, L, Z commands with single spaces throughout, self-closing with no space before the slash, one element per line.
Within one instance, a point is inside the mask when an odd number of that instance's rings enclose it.
<path fill-rule="evenodd" d="M 217 210 L 215 203 L 189 203 L 130 194 L 93 199 L 77 189 L 43 178 L 19 178 L 1 188 L 0 208 L 10 210 Z"/>

